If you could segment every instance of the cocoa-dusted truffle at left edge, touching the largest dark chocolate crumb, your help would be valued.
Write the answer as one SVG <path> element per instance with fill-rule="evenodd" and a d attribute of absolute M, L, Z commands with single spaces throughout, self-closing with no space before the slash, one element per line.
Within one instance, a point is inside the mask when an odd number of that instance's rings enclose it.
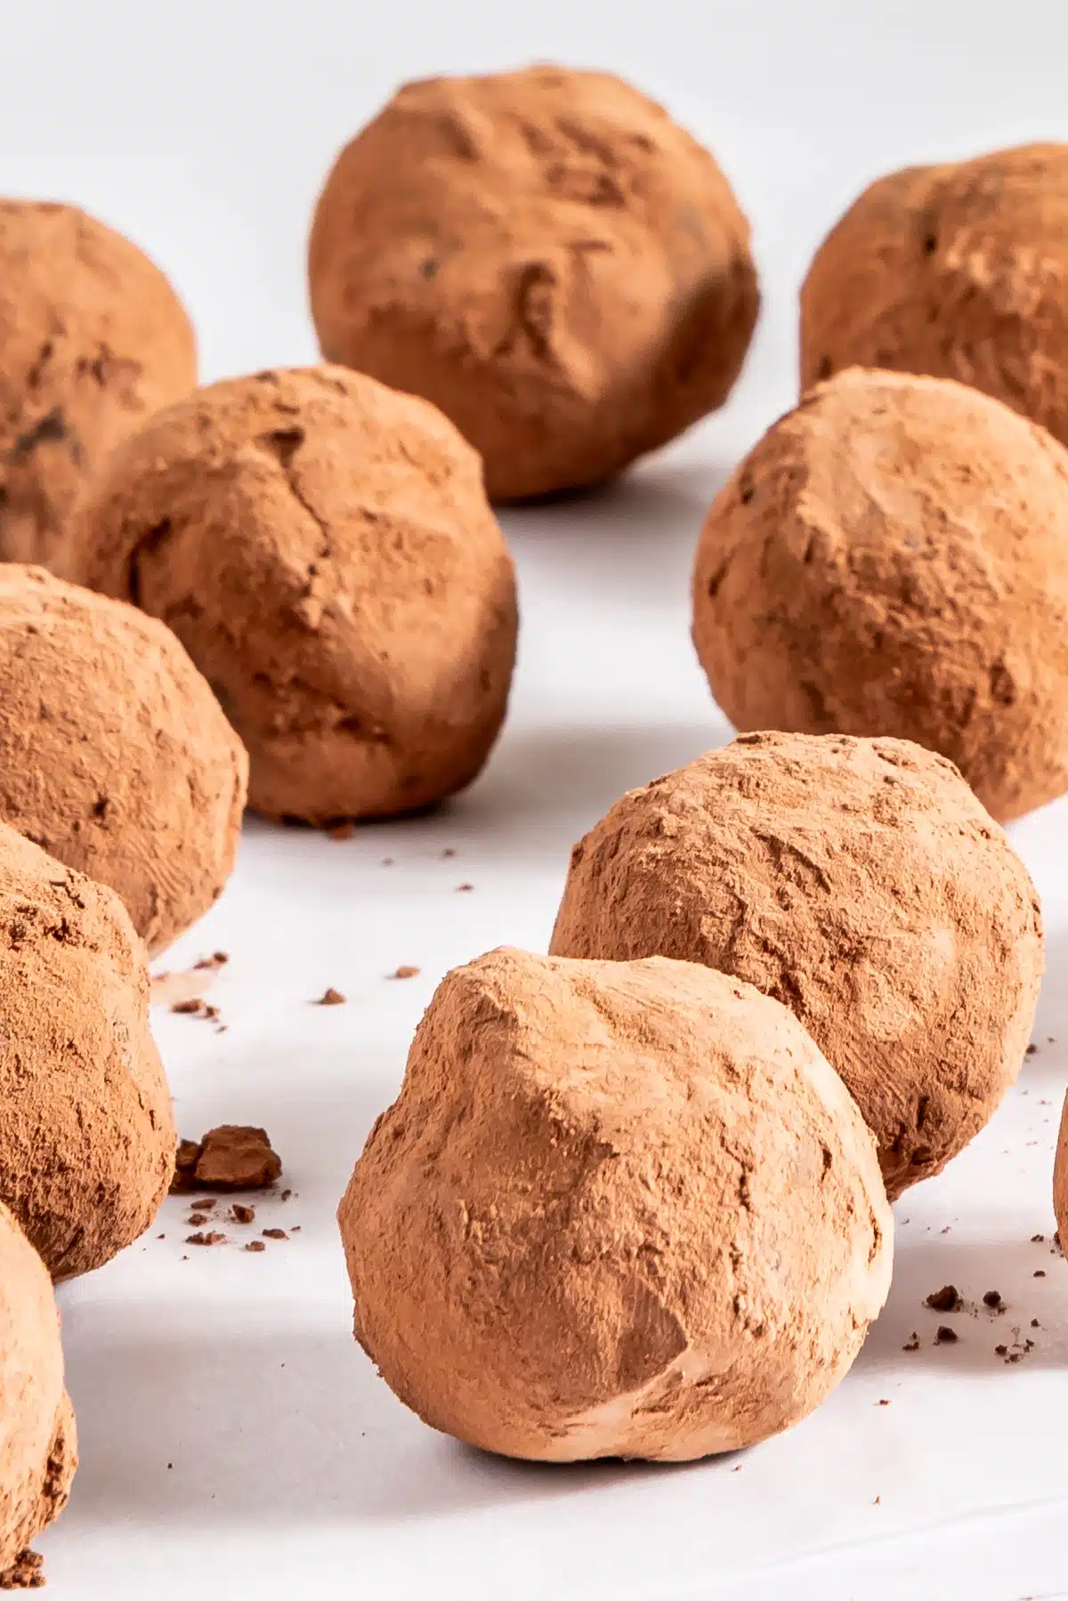
<path fill-rule="evenodd" d="M 53 1278 L 88 1273 L 149 1226 L 175 1146 L 122 901 L 0 825 L 0 1201 Z"/>

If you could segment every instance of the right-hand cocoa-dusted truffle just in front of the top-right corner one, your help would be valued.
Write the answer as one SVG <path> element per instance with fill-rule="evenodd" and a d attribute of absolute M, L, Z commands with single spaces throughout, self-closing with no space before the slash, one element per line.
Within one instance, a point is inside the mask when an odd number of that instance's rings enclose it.
<path fill-rule="evenodd" d="M 738 730 L 893 735 L 1001 821 L 1068 789 L 1068 451 L 946 379 L 852 368 L 708 514 L 693 642 Z"/>

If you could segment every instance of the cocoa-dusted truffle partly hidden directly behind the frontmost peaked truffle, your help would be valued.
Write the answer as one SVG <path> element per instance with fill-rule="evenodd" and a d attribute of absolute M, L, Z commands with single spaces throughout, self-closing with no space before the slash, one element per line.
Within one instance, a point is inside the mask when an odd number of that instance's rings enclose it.
<path fill-rule="evenodd" d="M 890 1196 L 988 1121 L 1042 977 L 1026 868 L 950 762 L 785 733 L 616 800 L 572 852 L 552 951 L 705 962 L 783 1001 L 876 1135 Z"/>

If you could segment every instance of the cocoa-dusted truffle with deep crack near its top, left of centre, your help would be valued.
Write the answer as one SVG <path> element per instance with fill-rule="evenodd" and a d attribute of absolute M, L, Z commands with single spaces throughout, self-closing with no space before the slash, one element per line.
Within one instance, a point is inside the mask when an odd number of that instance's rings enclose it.
<path fill-rule="evenodd" d="M 112 456 L 80 538 L 83 580 L 211 682 L 259 812 L 415 812 L 485 762 L 516 578 L 479 458 L 426 402 L 328 367 L 213 384 Z"/>

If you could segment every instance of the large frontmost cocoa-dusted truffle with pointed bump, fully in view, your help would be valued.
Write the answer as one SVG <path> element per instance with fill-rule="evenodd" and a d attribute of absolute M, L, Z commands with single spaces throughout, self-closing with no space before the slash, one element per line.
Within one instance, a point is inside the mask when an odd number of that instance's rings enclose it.
<path fill-rule="evenodd" d="M 355 1337 L 400 1399 L 544 1462 L 789 1428 L 890 1284 L 837 1074 L 775 1001 L 661 959 L 450 973 L 339 1223 Z"/>

